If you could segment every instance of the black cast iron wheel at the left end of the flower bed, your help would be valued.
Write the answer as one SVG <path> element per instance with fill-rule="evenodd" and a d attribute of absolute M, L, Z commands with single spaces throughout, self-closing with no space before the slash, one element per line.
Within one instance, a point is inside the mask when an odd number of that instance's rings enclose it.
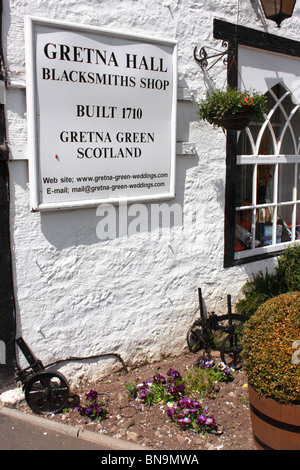
<path fill-rule="evenodd" d="M 25 385 L 25 399 L 34 413 L 59 413 L 67 404 L 69 385 L 59 372 L 37 373 Z"/>

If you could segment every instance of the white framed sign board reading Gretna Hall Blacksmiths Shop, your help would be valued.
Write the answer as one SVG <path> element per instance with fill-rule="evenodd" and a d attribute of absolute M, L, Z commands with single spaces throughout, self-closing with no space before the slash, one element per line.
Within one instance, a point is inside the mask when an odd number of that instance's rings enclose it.
<path fill-rule="evenodd" d="M 32 210 L 174 197 L 175 41 L 27 18 Z"/>

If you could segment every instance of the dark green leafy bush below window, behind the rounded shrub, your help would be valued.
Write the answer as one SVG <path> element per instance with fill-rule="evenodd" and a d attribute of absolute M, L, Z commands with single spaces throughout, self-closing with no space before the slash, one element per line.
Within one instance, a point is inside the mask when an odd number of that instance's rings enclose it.
<path fill-rule="evenodd" d="M 274 273 L 260 271 L 252 280 L 246 282 L 235 310 L 237 313 L 251 316 L 268 299 L 286 292 L 300 291 L 300 245 L 296 244 L 284 250 L 278 258 Z"/>

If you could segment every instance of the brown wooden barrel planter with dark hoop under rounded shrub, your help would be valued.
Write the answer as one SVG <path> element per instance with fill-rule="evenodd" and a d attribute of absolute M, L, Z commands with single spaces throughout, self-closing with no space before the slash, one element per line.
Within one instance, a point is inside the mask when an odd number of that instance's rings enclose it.
<path fill-rule="evenodd" d="M 261 450 L 300 450 L 300 405 L 265 398 L 249 385 L 253 436 Z"/>

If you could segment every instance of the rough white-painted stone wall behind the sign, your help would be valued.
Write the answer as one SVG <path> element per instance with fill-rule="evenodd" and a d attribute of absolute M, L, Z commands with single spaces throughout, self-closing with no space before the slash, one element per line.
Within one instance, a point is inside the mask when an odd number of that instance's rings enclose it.
<path fill-rule="evenodd" d="M 226 68 L 220 63 L 203 74 L 193 49 L 207 45 L 220 50 L 221 42 L 213 39 L 214 18 L 298 40 L 299 7 L 277 30 L 262 17 L 258 0 L 4 1 L 17 334 L 44 364 L 112 352 L 133 365 L 179 354 L 198 316 L 197 287 L 202 287 L 207 309 L 220 313 L 227 308 L 228 293 L 235 301 L 252 273 L 272 269 L 275 259 L 223 268 L 226 139 L 221 130 L 198 121 L 195 103 L 211 81 L 224 85 Z M 190 153 L 177 156 L 176 199 L 168 205 L 180 206 L 180 226 L 101 241 L 95 208 L 30 212 L 25 15 L 178 41 L 177 141 L 184 143 L 179 149 Z M 146 208 L 150 214 L 150 204 Z M 106 359 L 75 363 L 65 373 L 70 380 L 96 377 L 113 364 Z"/>

